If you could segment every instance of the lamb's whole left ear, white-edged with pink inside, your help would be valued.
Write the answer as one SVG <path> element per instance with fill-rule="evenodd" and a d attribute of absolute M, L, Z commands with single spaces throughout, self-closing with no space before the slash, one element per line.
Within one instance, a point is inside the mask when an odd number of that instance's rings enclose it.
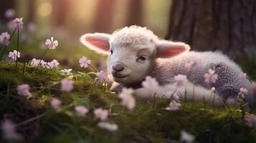
<path fill-rule="evenodd" d="M 110 48 L 109 39 L 110 34 L 95 33 L 95 34 L 84 34 L 80 37 L 82 44 L 87 46 L 89 49 L 96 51 L 100 54 L 109 54 Z"/>

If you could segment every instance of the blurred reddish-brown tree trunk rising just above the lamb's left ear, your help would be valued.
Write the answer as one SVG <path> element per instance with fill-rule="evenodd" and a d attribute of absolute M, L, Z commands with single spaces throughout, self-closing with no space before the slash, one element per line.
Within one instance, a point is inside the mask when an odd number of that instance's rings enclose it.
<path fill-rule="evenodd" d="M 98 32 L 112 31 L 114 0 L 98 0 L 93 30 Z"/>

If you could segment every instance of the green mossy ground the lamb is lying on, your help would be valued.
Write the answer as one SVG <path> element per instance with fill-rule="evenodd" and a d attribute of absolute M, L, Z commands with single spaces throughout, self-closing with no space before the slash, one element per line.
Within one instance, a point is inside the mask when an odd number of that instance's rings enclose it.
<path fill-rule="evenodd" d="M 164 109 L 169 99 L 137 99 L 135 109 L 128 111 L 116 93 L 95 83 L 92 74 L 65 76 L 57 69 L 23 67 L 18 64 L 18 70 L 14 63 L 0 61 L 1 120 L 18 124 L 23 142 L 179 142 L 181 130 L 194 134 L 196 142 L 256 142 L 256 129 L 247 127 L 236 108 L 186 102 L 170 112 Z M 70 93 L 60 91 L 65 77 L 75 81 Z M 31 87 L 31 99 L 16 94 L 16 86 L 24 83 Z M 53 97 L 62 100 L 60 109 L 50 106 Z M 77 117 L 75 105 L 89 108 L 89 114 Z M 109 110 L 108 122 L 118 124 L 117 132 L 97 127 L 92 111 L 98 107 Z"/>

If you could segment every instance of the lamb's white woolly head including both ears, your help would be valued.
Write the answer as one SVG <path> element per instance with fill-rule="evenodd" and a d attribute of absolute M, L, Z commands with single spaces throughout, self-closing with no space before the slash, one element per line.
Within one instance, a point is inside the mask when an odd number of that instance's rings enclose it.
<path fill-rule="evenodd" d="M 130 26 L 113 34 L 84 34 L 80 41 L 89 49 L 108 55 L 108 71 L 115 82 L 134 84 L 146 77 L 156 58 L 189 51 L 187 44 L 160 40 L 146 27 Z"/>

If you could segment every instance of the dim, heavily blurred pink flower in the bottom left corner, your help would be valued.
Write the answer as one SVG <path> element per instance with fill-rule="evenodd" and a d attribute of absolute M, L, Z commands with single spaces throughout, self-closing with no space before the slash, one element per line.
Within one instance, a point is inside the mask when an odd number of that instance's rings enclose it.
<path fill-rule="evenodd" d="M 16 132 L 16 124 L 9 119 L 4 119 L 1 123 L 1 129 L 5 139 L 9 141 L 22 140 L 22 135 Z"/>

